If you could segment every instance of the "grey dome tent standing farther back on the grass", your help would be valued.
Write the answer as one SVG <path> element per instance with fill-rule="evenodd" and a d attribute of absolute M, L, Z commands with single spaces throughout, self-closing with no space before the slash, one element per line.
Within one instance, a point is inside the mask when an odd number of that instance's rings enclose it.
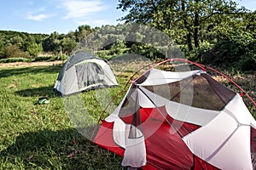
<path fill-rule="evenodd" d="M 61 95 L 69 95 L 117 85 L 107 61 L 94 54 L 80 52 L 71 56 L 63 65 L 54 89 Z"/>

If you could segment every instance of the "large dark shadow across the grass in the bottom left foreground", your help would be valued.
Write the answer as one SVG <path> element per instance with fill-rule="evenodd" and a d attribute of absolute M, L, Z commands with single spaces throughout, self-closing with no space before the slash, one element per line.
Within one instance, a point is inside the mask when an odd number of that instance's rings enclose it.
<path fill-rule="evenodd" d="M 20 134 L 15 144 L 0 152 L 1 159 L 6 164 L 20 163 L 25 169 L 123 169 L 121 157 L 93 144 L 73 128 Z"/>

